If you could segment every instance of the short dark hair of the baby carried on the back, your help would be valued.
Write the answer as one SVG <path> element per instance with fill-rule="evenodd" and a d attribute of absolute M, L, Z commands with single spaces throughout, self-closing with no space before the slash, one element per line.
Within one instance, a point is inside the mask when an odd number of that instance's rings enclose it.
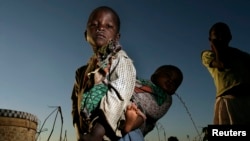
<path fill-rule="evenodd" d="M 162 65 L 162 66 L 158 67 L 155 70 L 154 74 L 151 76 L 151 81 L 154 84 L 157 84 L 158 83 L 157 78 L 164 75 L 164 74 L 169 75 L 168 72 L 174 72 L 174 73 L 177 74 L 178 81 L 177 81 L 176 85 L 177 85 L 177 87 L 179 87 L 182 80 L 183 80 L 183 74 L 182 74 L 182 71 L 178 67 L 176 67 L 174 65 Z"/>

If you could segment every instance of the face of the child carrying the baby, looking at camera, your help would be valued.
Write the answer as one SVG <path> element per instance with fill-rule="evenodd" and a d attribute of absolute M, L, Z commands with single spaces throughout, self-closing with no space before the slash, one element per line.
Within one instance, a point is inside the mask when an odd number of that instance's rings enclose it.
<path fill-rule="evenodd" d="M 117 18 L 106 9 L 95 11 L 89 18 L 85 37 L 94 51 L 106 46 L 110 40 L 119 40 Z"/>

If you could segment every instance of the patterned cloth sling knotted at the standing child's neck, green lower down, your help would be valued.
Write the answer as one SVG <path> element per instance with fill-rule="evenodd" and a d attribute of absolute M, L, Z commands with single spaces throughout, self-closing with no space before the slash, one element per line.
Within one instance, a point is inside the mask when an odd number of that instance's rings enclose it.
<path fill-rule="evenodd" d="M 92 112 L 98 107 L 99 102 L 102 97 L 107 93 L 107 85 L 93 84 L 93 75 L 99 71 L 99 69 L 104 69 L 109 63 L 110 57 L 115 55 L 121 46 L 116 41 L 110 41 L 107 46 L 100 48 L 90 59 L 88 63 L 87 71 L 85 72 L 85 85 L 87 87 L 92 87 L 88 91 L 85 91 L 82 95 L 81 110 L 85 112 L 87 117 L 90 117 Z"/>

